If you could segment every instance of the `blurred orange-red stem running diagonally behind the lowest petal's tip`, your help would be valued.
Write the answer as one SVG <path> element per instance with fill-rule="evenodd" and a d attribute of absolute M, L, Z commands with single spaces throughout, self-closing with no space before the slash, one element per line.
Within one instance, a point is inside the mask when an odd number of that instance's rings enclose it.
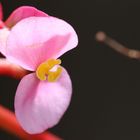
<path fill-rule="evenodd" d="M 18 124 L 14 113 L 0 105 L 0 128 L 25 140 L 60 140 L 50 132 L 29 135 Z"/>

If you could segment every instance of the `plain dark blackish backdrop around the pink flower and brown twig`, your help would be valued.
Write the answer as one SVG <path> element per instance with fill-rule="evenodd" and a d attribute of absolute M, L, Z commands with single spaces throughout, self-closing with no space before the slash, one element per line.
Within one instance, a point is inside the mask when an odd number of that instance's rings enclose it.
<path fill-rule="evenodd" d="M 73 98 L 61 122 L 50 129 L 65 140 L 140 139 L 140 61 L 95 41 L 103 30 L 140 50 L 139 0 L 3 0 L 5 18 L 32 5 L 69 22 L 79 45 L 62 56 L 73 81 Z M 19 81 L 0 79 L 0 103 L 13 110 Z M 0 130 L 1 140 L 17 140 Z"/>

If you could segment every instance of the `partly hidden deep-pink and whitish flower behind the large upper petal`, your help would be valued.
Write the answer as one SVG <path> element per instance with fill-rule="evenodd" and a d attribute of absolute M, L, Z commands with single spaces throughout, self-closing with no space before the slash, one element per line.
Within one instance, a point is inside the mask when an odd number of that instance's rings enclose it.
<path fill-rule="evenodd" d="M 48 17 L 48 15 L 31 6 L 21 6 L 17 8 L 4 22 L 2 5 L 0 4 L 0 51 L 5 55 L 6 39 L 12 27 L 19 21 L 28 17 Z"/>

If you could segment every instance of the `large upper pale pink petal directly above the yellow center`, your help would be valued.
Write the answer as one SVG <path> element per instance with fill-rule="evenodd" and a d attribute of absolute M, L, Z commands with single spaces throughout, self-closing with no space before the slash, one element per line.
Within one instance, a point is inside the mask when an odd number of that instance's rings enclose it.
<path fill-rule="evenodd" d="M 17 23 L 7 41 L 7 58 L 28 70 L 76 47 L 78 38 L 65 21 L 54 17 L 30 17 Z"/>

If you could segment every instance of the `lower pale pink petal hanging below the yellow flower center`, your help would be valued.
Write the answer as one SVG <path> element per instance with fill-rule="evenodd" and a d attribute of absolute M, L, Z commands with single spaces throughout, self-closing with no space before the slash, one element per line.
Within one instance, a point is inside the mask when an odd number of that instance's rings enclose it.
<path fill-rule="evenodd" d="M 64 69 L 56 82 L 39 81 L 34 73 L 26 75 L 16 91 L 17 120 L 26 132 L 41 133 L 60 121 L 71 94 L 71 80 Z"/>

